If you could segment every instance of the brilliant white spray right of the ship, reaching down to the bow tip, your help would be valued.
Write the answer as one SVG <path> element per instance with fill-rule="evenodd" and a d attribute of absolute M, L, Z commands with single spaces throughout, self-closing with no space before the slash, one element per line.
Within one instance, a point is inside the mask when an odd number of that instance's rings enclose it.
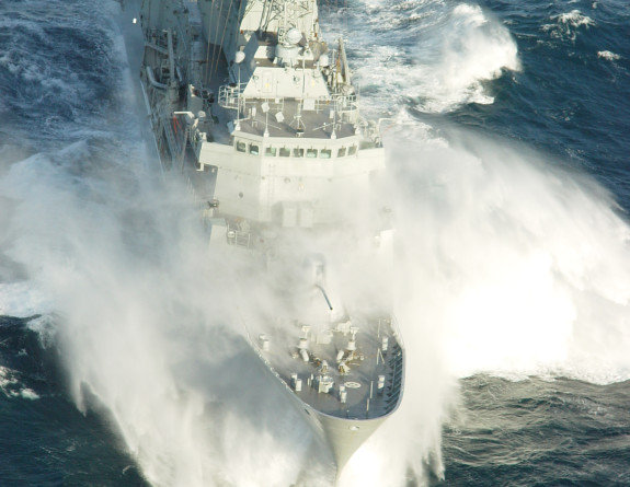
<path fill-rule="evenodd" d="M 630 378 L 630 228 L 614 199 L 523 146 L 427 134 L 408 123 L 387 140 L 405 393 L 347 487 L 439 478 L 442 426 L 465 420 L 460 378 Z"/>

